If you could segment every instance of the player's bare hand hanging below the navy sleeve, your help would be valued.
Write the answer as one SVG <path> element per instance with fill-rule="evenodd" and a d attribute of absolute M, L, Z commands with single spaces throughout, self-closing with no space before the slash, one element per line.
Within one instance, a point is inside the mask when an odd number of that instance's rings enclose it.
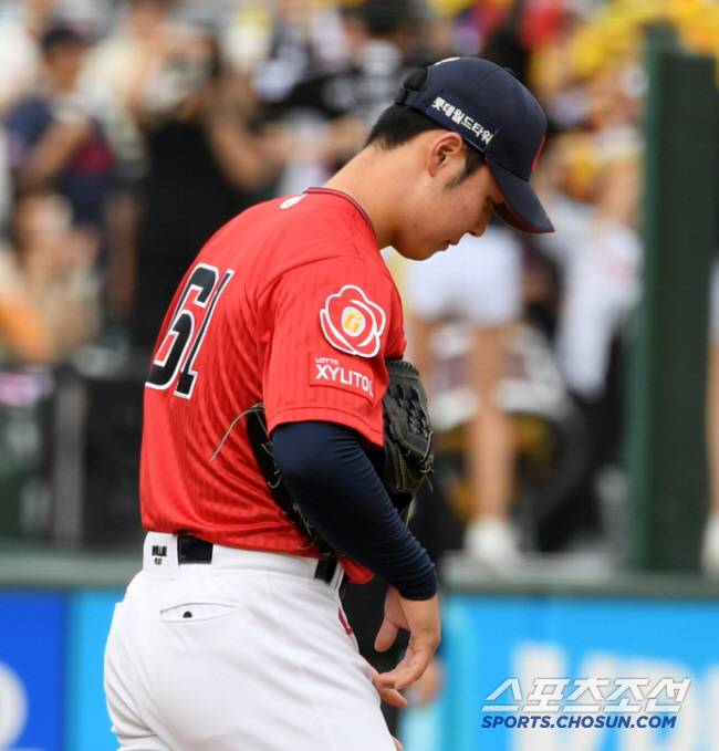
<path fill-rule="evenodd" d="M 406 599 L 390 586 L 385 598 L 385 619 L 377 633 L 375 649 L 388 649 L 400 628 L 409 632 L 405 656 L 394 670 L 377 677 L 379 685 L 397 690 L 409 686 L 425 672 L 439 646 L 441 626 L 438 596 L 435 595 L 431 599 Z"/>

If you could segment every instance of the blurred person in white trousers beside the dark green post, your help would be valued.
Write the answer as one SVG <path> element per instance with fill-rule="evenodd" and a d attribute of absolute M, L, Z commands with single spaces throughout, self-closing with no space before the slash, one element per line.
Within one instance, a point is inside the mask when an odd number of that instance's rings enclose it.
<path fill-rule="evenodd" d="M 539 239 L 561 277 L 554 348 L 592 453 L 585 480 L 555 526 L 559 546 L 600 541 L 601 473 L 621 463 L 625 332 L 642 267 L 635 66 L 619 58 L 593 72 L 584 82 L 583 127 L 558 136 L 542 166 L 543 178 L 554 173 L 546 200 L 558 231 Z"/>

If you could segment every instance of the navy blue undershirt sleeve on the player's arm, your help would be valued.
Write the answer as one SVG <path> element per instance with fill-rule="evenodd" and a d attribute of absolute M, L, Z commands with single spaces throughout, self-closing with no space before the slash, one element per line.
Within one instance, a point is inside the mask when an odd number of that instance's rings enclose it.
<path fill-rule="evenodd" d="M 407 599 L 429 599 L 437 573 L 397 514 L 351 428 L 335 423 L 284 423 L 272 447 L 293 499 L 322 538 Z"/>

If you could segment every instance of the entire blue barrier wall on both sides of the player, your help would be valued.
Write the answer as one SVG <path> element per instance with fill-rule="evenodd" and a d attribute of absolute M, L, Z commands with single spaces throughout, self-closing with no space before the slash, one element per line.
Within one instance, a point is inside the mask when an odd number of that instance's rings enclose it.
<path fill-rule="evenodd" d="M 0 590 L 0 749 L 116 751 L 102 672 L 122 596 L 116 587 Z M 717 751 L 717 633 L 719 598 L 450 593 L 445 690 L 429 711 L 405 715 L 405 751 Z M 498 716 L 522 715 L 494 709 L 517 701 L 511 686 L 488 700 L 503 681 L 515 681 L 527 709 L 535 678 L 590 676 L 691 684 L 674 727 L 561 729 L 566 707 L 529 708 L 529 717 L 550 718 L 545 728 L 508 728 L 506 719 L 493 727 Z"/>

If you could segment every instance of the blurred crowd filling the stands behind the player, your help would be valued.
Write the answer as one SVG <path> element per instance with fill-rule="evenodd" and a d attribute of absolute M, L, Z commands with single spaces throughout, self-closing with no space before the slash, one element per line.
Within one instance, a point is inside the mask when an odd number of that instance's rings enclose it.
<path fill-rule="evenodd" d="M 420 264 L 386 251 L 456 522 L 445 547 L 494 567 L 621 555 L 652 24 L 719 56 L 710 0 L 3 0 L 0 483 L 44 466 L 22 457 L 42 453 L 28 410 L 49 376 L 88 351 L 148 364 L 225 221 L 321 185 L 411 70 L 481 55 L 548 113 L 533 184 L 556 232 L 492 222 Z M 42 493 L 18 493 L 20 533 L 42 531 Z"/>

